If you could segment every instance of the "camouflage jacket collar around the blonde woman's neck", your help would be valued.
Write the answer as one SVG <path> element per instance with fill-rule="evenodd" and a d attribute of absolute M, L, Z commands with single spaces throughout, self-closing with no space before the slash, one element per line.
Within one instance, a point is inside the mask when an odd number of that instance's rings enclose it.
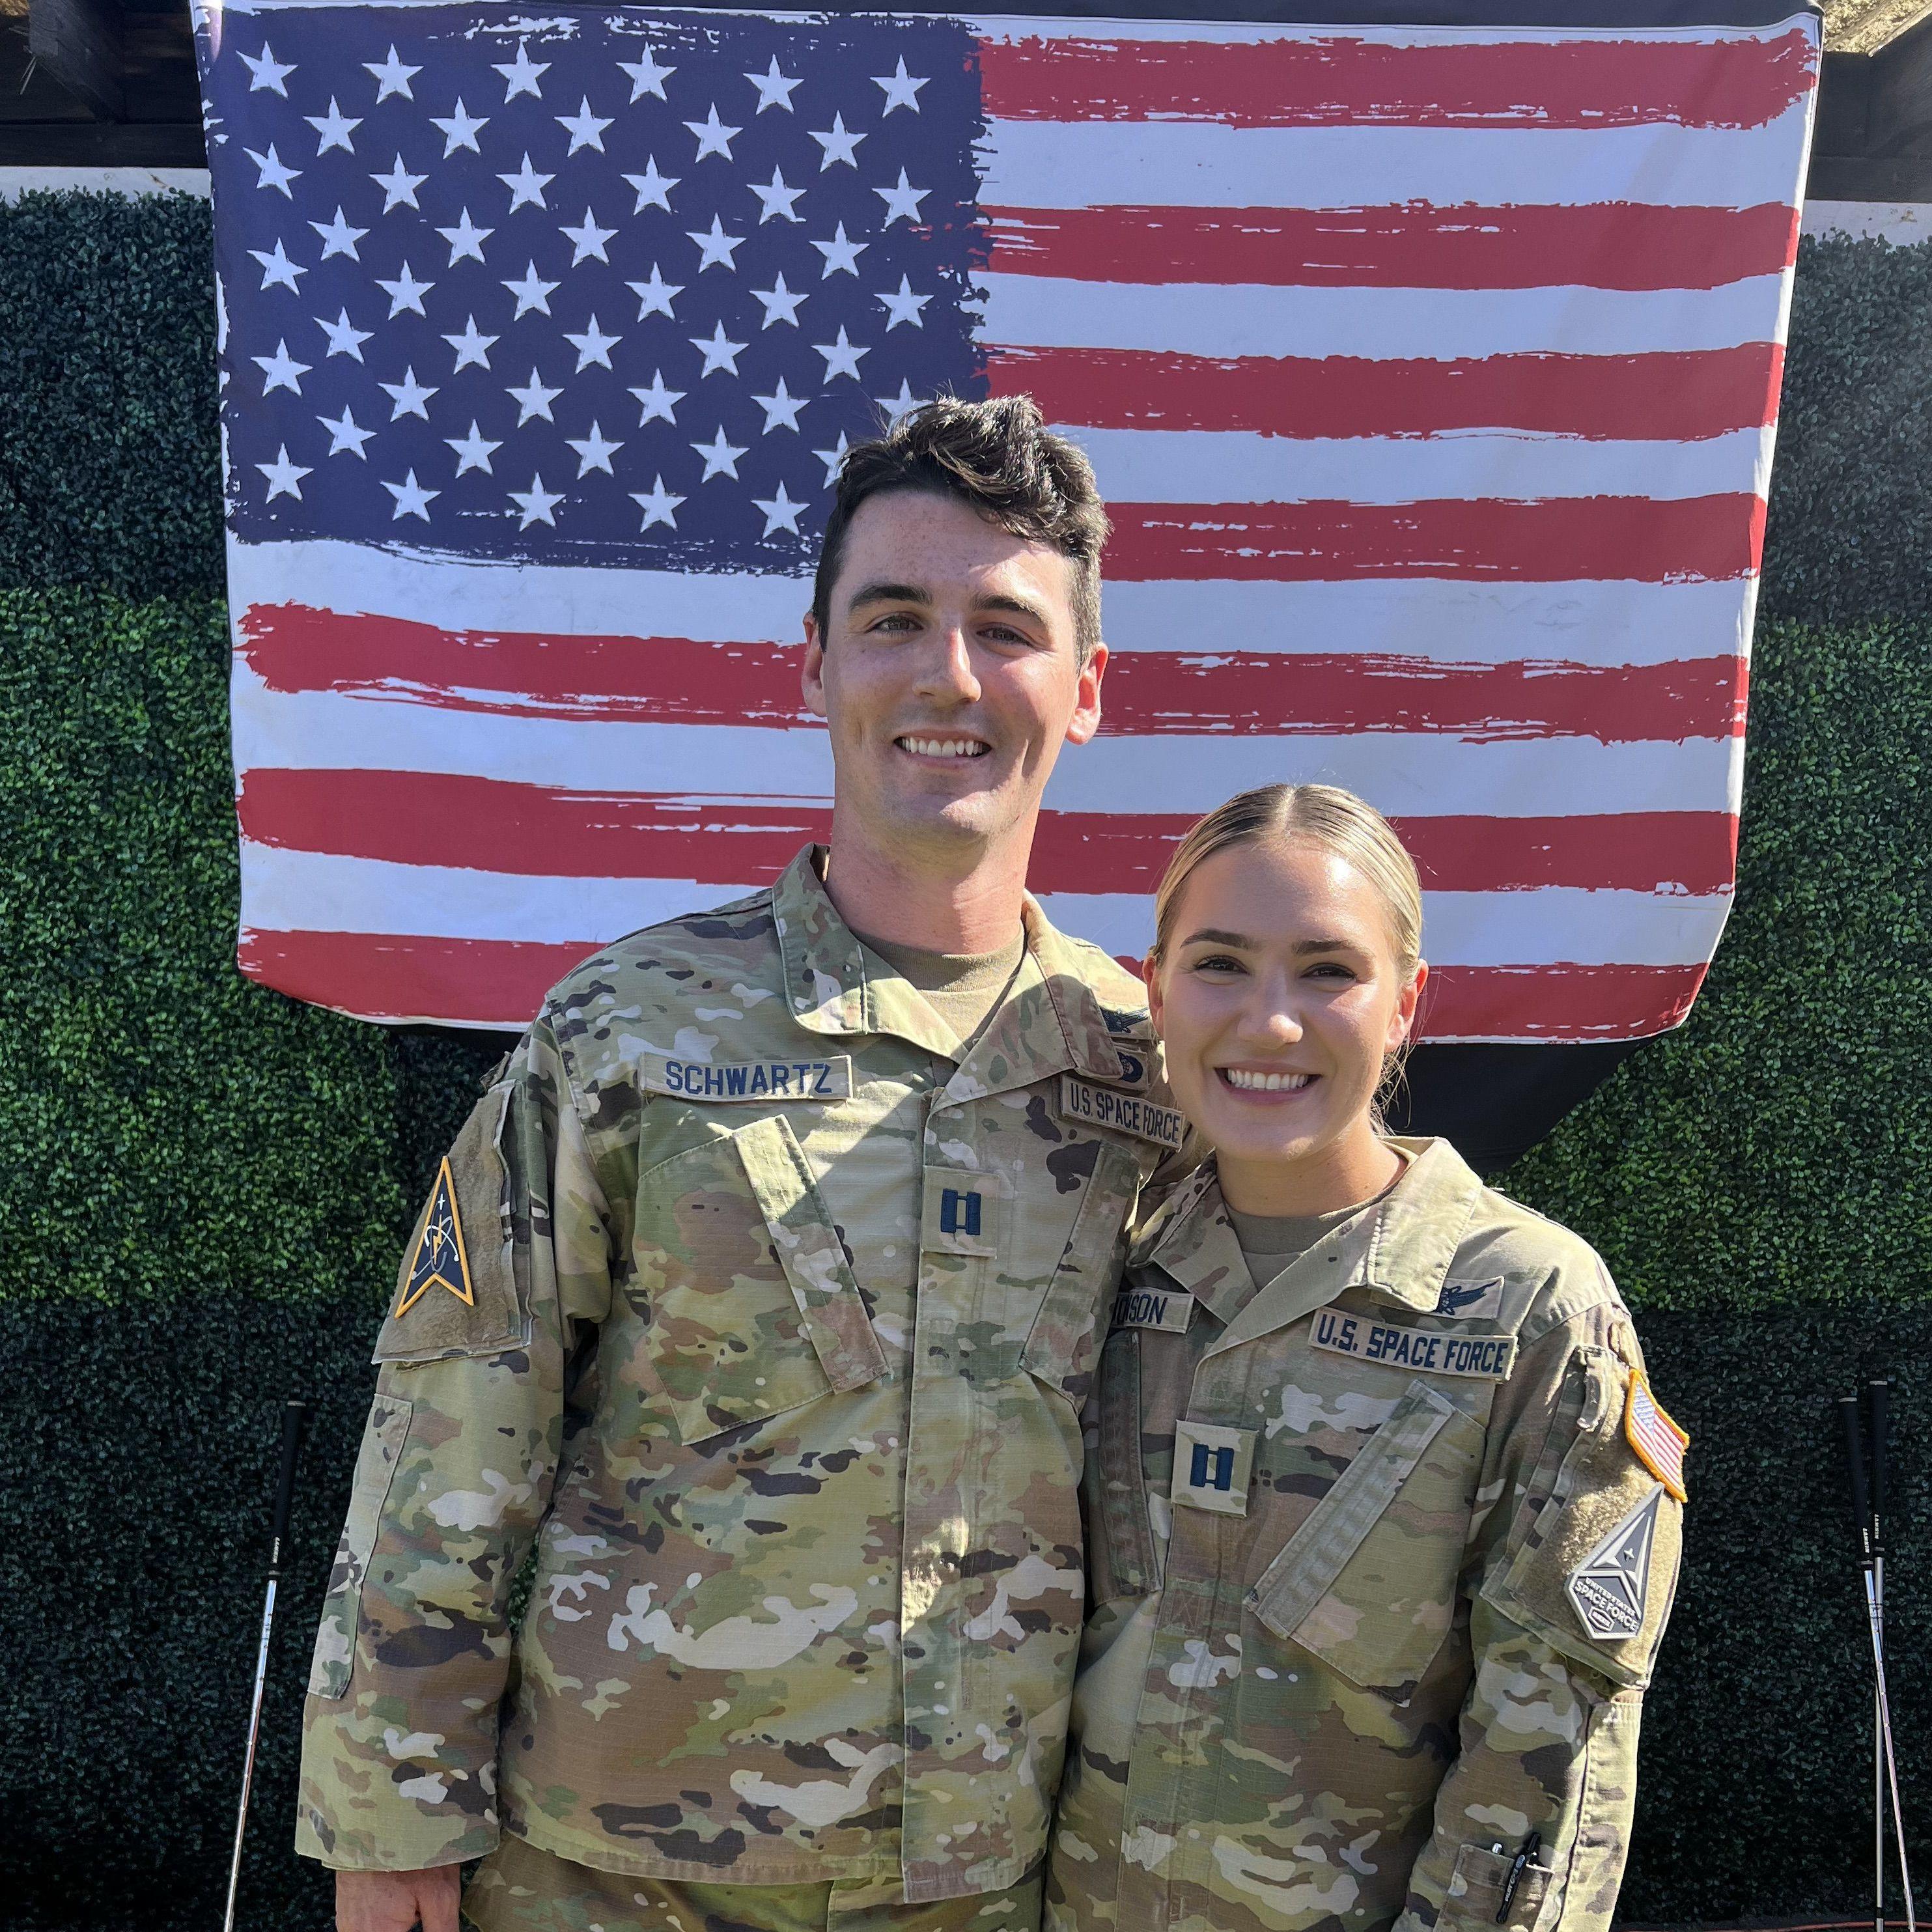
<path fill-rule="evenodd" d="M 1482 1182 L 1447 1140 L 1395 1140 L 1410 1159 L 1395 1186 L 1267 1283 L 1256 1283 L 1209 1161 L 1175 1194 L 1136 1244 L 1208 1304 L 1227 1333 L 1208 1352 L 1265 1335 L 1347 1289 L 1432 1314 Z"/>

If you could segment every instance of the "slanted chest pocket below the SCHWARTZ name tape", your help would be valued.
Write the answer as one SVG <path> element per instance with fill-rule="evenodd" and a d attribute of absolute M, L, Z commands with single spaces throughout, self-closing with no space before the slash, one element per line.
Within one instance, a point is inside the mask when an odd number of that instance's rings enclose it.
<path fill-rule="evenodd" d="M 639 1184 L 636 1260 L 680 1441 L 885 1374 L 844 1244 L 782 1115 Z"/>

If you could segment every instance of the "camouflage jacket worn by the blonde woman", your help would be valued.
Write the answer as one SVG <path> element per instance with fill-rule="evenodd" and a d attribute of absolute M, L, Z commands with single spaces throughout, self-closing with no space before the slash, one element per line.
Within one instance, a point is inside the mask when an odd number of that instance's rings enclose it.
<path fill-rule="evenodd" d="M 1088 1410 L 1061 1932 L 1609 1924 L 1681 1432 L 1590 1248 L 1399 1146 L 1265 1285 L 1211 1167 L 1136 1235 Z"/>

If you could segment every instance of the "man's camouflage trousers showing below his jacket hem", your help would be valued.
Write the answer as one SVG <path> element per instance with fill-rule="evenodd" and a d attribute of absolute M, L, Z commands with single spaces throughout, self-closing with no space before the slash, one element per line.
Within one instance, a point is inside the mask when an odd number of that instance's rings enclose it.
<path fill-rule="evenodd" d="M 1043 1868 L 1009 1891 L 906 1905 L 896 1880 L 703 1886 L 599 1872 L 504 1835 L 464 1889 L 466 1932 L 1039 1932 Z"/>

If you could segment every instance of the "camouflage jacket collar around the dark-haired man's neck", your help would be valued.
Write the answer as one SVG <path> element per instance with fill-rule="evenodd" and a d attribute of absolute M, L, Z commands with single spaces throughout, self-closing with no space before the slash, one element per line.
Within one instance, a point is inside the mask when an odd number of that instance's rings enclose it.
<path fill-rule="evenodd" d="M 771 906 L 792 1020 L 811 1034 L 891 1034 L 951 1059 L 958 1041 L 898 974 L 867 954 L 825 891 L 825 848 L 806 846 L 779 875 Z M 1121 1080 L 1121 1055 L 1088 987 L 1092 954 L 1057 931 L 1039 902 L 1020 906 L 1026 958 L 1005 1005 L 947 1086 L 974 1099 L 1076 1070 Z"/>

